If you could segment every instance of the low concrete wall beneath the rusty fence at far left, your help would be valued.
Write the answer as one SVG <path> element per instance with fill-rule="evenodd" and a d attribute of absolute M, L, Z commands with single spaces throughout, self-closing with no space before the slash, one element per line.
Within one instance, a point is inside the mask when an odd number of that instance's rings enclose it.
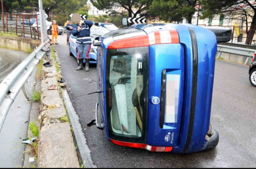
<path fill-rule="evenodd" d="M 1 48 L 11 48 L 26 51 L 28 49 L 34 50 L 37 46 L 41 44 L 41 40 L 27 39 L 20 37 L 1 37 L 0 47 Z"/>

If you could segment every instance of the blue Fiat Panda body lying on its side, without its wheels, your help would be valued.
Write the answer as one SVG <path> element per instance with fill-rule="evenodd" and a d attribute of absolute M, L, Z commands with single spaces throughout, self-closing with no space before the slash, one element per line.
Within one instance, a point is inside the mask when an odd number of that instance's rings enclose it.
<path fill-rule="evenodd" d="M 139 24 L 99 40 L 96 118 L 109 141 L 178 154 L 204 150 L 215 34 L 191 24 Z"/>

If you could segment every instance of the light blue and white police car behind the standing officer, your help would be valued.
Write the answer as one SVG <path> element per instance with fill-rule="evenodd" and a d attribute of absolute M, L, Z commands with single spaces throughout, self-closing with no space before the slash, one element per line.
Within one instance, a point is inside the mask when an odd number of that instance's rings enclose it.
<path fill-rule="evenodd" d="M 91 39 L 93 40 L 96 37 L 100 37 L 106 33 L 111 32 L 113 27 L 114 27 L 114 25 L 111 25 L 111 29 L 108 29 L 105 26 L 105 24 L 103 24 L 103 23 L 94 23 L 94 25 L 91 28 Z M 76 39 L 77 39 L 77 37 L 74 37 L 73 35 L 71 35 L 69 38 L 69 55 L 77 58 L 78 50 L 77 50 Z M 78 58 L 77 58 L 77 63 L 79 63 Z M 85 63 L 85 61 L 84 61 L 84 63 Z M 92 44 L 91 50 L 90 50 L 90 63 L 91 64 L 97 63 L 97 47 L 93 46 L 93 44 Z"/>

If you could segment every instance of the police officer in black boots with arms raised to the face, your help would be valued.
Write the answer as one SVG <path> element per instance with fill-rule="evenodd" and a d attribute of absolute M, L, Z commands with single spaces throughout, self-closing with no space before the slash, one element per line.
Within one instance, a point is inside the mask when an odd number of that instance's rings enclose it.
<path fill-rule="evenodd" d="M 89 71 L 89 62 L 90 62 L 90 50 L 92 40 L 90 37 L 91 27 L 93 23 L 90 20 L 81 20 L 79 24 L 74 26 L 72 30 L 72 35 L 77 36 L 77 50 L 78 50 L 78 61 L 79 67 L 77 71 L 83 69 L 83 59 L 85 58 L 85 71 Z"/>

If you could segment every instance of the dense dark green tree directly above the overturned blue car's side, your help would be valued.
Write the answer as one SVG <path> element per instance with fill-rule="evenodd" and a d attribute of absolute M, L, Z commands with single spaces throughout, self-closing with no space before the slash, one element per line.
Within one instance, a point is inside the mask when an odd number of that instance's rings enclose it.
<path fill-rule="evenodd" d="M 183 18 L 192 22 L 199 0 L 154 0 L 150 13 L 165 21 L 180 21 Z"/>

